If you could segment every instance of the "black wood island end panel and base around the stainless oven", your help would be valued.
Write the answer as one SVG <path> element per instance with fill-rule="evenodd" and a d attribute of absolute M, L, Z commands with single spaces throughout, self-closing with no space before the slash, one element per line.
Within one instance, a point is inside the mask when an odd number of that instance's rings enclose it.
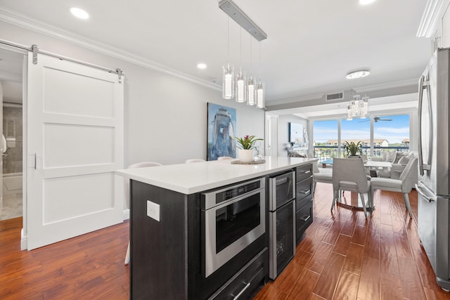
<path fill-rule="evenodd" d="M 229 299 L 240 292 L 245 299 L 268 279 L 266 234 L 205 278 L 200 193 L 184 195 L 139 181 L 131 181 L 130 190 L 131 299 Z M 158 206 L 159 221 L 149 216 L 148 202 Z"/>

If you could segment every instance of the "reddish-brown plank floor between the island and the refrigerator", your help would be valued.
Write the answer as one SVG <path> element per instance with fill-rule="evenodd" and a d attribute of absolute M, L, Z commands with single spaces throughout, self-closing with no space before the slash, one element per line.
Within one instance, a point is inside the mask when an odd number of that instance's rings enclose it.
<path fill-rule="evenodd" d="M 332 185 L 318 183 L 314 223 L 283 273 L 255 297 L 262 299 L 450 299 L 436 283 L 401 193 L 375 192 L 370 219 L 336 207 Z"/>

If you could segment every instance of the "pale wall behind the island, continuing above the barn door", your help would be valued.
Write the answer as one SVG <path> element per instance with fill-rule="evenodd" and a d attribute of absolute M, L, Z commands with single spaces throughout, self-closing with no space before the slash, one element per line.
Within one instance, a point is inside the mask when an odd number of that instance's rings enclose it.
<path fill-rule="evenodd" d="M 194 157 L 206 159 L 208 102 L 236 108 L 237 136 L 264 137 L 263 110 L 224 100 L 221 92 L 201 84 L 6 22 L 0 22 L 0 39 L 24 46 L 37 44 L 42 51 L 125 72 L 125 166 L 143 161 L 175 164 Z"/>

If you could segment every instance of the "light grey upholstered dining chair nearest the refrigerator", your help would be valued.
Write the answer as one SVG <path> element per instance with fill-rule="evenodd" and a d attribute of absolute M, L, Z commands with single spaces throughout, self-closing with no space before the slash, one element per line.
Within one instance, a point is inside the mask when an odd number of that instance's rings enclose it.
<path fill-rule="evenodd" d="M 403 201 L 406 209 L 408 209 L 409 216 L 413 217 L 411 211 L 411 204 L 409 202 L 409 193 L 418 181 L 418 158 L 413 157 L 406 164 L 405 169 L 401 172 L 399 179 L 378 177 L 371 180 L 371 194 L 373 199 L 373 192 L 375 190 L 388 190 L 390 192 L 399 192 L 403 194 Z"/>

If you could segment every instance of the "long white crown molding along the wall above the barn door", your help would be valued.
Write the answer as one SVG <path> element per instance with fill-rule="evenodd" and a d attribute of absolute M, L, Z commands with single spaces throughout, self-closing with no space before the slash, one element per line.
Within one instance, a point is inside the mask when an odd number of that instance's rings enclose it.
<path fill-rule="evenodd" d="M 71 44 L 75 44 L 77 46 L 82 46 L 83 48 L 88 48 L 89 50 L 93 50 L 98 53 L 111 56 L 113 58 L 118 58 L 128 63 L 133 63 L 134 65 L 146 67 L 147 69 L 150 70 L 170 74 L 174 77 L 179 77 L 181 79 L 191 81 L 195 84 L 200 84 L 201 86 L 205 86 L 209 89 L 213 89 L 214 91 L 221 91 L 221 86 L 219 86 L 218 84 L 214 84 L 214 82 L 210 82 L 205 79 L 200 79 L 190 74 L 180 72 L 179 70 L 172 69 L 171 67 L 167 67 L 166 65 L 156 63 L 153 60 L 148 60 L 141 56 L 136 56 L 136 54 L 124 51 L 121 48 L 110 46 L 108 44 L 98 43 L 98 41 L 94 41 L 92 39 L 86 39 L 85 37 L 82 37 L 78 34 L 61 30 L 58 27 L 49 25 L 45 22 L 34 20 L 32 18 L 27 17 L 26 15 L 17 13 L 16 11 L 11 11 L 4 7 L 0 7 L 0 21 L 7 22 L 11 25 L 15 25 L 18 27 L 22 27 L 26 30 L 32 30 L 33 32 L 44 34 L 48 37 L 59 39 L 60 41 L 65 41 Z M 124 70 L 125 74 L 126 71 L 127 70 Z"/>

